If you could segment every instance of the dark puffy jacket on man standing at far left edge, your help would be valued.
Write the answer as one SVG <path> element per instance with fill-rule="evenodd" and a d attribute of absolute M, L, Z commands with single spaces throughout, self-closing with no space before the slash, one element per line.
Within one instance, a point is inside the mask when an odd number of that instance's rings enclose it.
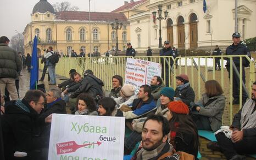
<path fill-rule="evenodd" d="M 0 43 L 0 78 L 17 78 L 21 67 L 17 52 L 7 44 Z"/>

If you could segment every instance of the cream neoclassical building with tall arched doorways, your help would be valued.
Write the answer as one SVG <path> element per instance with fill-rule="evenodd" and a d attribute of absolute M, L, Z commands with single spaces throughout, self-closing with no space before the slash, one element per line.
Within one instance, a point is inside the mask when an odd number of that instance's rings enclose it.
<path fill-rule="evenodd" d="M 169 40 L 179 49 L 224 48 L 232 43 L 235 32 L 235 1 L 206 0 L 148 0 L 148 11 L 130 17 L 131 42 L 136 51 L 143 52 L 148 46 L 157 49 L 159 44 L 159 20 L 154 21 L 152 12 L 169 12 L 162 20 L 162 44 Z M 164 13 L 162 11 L 162 15 Z M 158 16 L 158 13 L 157 13 Z M 256 36 L 256 0 L 238 0 L 238 32 L 242 39 Z"/>

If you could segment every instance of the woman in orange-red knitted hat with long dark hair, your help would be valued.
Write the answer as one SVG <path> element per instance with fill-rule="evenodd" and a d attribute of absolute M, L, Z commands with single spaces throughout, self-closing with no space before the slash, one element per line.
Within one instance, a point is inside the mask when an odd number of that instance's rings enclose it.
<path fill-rule="evenodd" d="M 168 104 L 167 119 L 170 125 L 170 141 L 176 151 L 194 155 L 197 159 L 199 146 L 196 124 L 189 114 L 188 106 L 181 101 Z"/>

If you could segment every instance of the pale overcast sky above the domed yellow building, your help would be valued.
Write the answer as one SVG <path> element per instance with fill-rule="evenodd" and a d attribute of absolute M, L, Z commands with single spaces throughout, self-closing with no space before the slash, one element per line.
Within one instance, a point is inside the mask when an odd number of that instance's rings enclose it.
<path fill-rule="evenodd" d="M 23 32 L 27 23 L 31 22 L 32 10 L 40 0 L 0 0 L 0 37 L 9 39 L 15 35 L 15 30 Z M 88 0 L 48 0 L 49 3 L 68 1 L 79 7 L 79 11 L 89 11 Z M 91 11 L 112 11 L 124 4 L 125 0 L 92 0 Z M 127 1 L 127 0 L 126 0 Z"/>

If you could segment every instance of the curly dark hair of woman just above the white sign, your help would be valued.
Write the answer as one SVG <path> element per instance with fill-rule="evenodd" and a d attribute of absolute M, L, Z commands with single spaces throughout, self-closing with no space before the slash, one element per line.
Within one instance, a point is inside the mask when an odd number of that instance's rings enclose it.
<path fill-rule="evenodd" d="M 92 98 L 92 96 L 86 94 L 86 93 L 81 93 L 79 94 L 79 96 L 77 96 L 76 98 L 76 109 L 77 109 L 77 105 L 78 105 L 78 101 L 79 100 L 84 100 L 84 102 L 87 105 L 87 109 L 89 112 L 93 112 L 96 111 L 96 102 L 95 100 Z"/>

